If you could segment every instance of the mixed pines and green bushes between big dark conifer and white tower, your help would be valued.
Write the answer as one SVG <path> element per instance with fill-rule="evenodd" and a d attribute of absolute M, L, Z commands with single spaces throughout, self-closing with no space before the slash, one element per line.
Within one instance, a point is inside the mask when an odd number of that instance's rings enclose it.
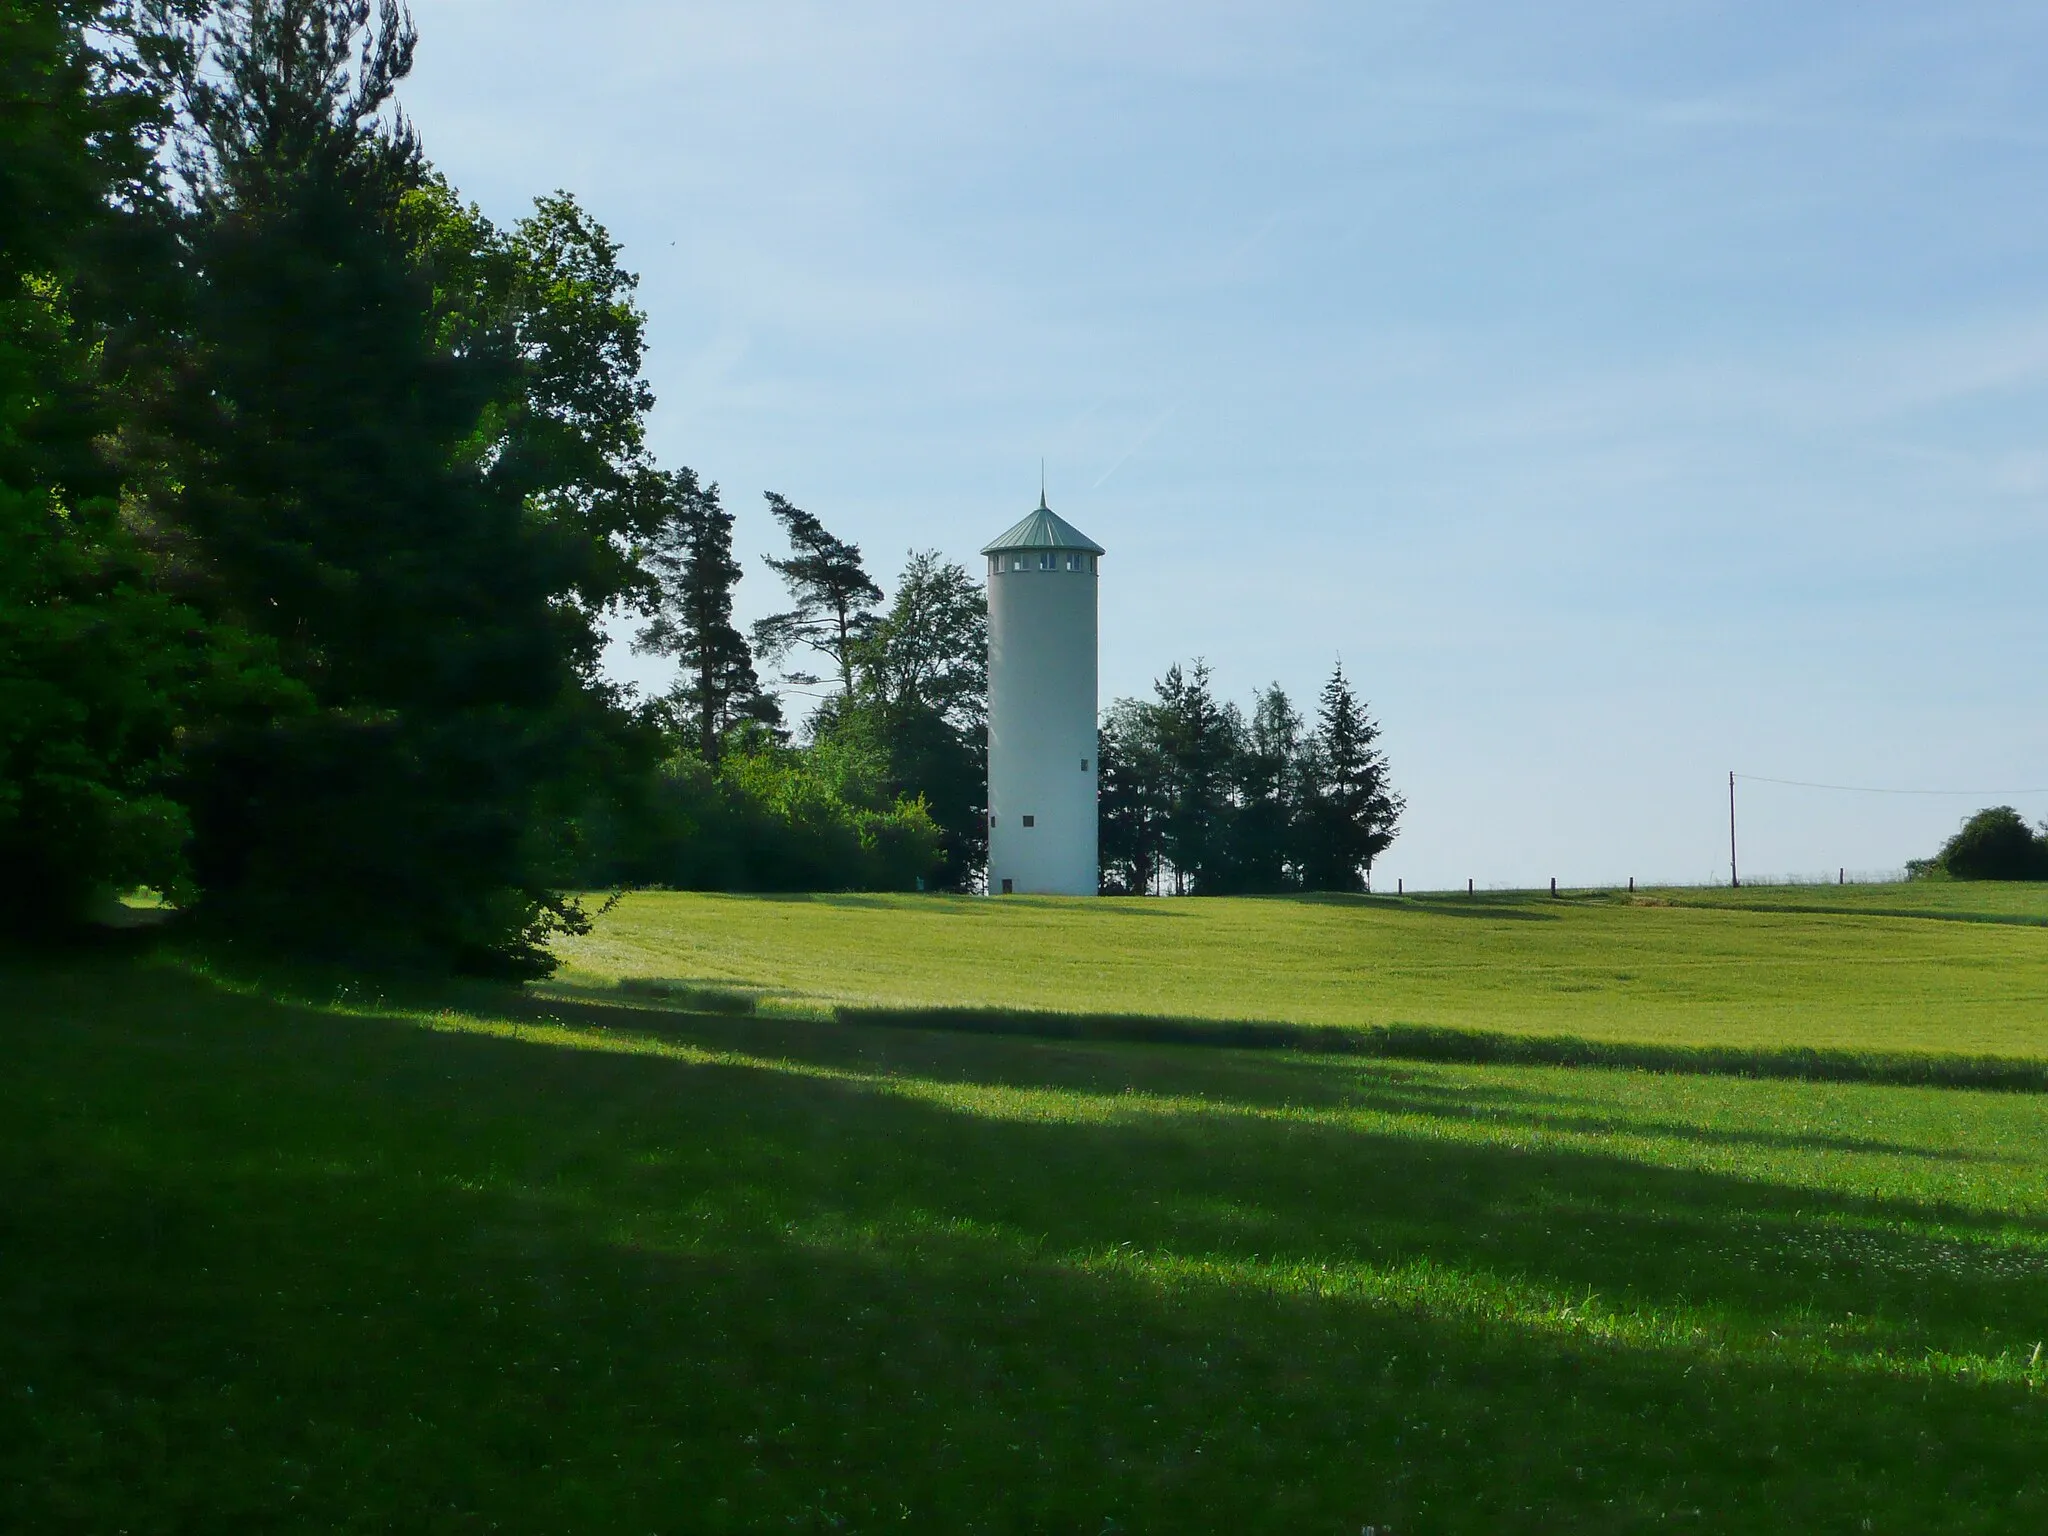
<path fill-rule="evenodd" d="M 647 709 L 651 774 L 586 817 L 590 885 L 721 891 L 973 889 L 987 858 L 987 604 L 965 567 L 913 551 L 885 600 L 860 547 L 774 492 L 788 608 L 733 625 L 733 514 L 682 471 L 645 549 L 635 649 L 676 662 Z M 758 662 L 823 696 L 784 727 Z"/>

